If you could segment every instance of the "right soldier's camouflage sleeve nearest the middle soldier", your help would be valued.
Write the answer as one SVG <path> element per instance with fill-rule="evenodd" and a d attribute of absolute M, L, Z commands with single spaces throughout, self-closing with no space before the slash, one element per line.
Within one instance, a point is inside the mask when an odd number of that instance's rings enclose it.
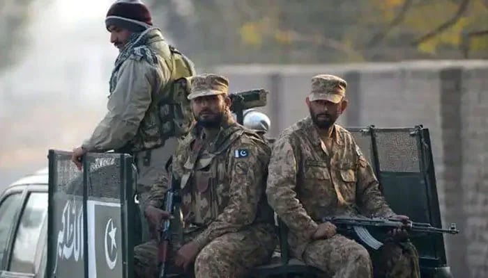
<path fill-rule="evenodd" d="M 296 197 L 297 172 L 297 156 L 292 144 L 289 138 L 280 138 L 273 143 L 268 166 L 268 203 L 293 233 L 310 238 L 318 224 L 310 218 Z"/>

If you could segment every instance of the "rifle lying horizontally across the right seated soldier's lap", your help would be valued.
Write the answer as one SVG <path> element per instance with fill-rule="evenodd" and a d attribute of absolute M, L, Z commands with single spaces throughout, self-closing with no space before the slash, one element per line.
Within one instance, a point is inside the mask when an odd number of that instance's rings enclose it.
<path fill-rule="evenodd" d="M 459 230 L 456 228 L 456 224 L 452 223 L 449 229 L 441 229 L 432 227 L 429 223 L 419 223 L 408 221 L 406 223 L 402 220 L 391 218 L 366 218 L 366 217 L 324 217 L 322 222 L 330 222 L 335 224 L 338 231 L 354 232 L 356 236 L 365 244 L 374 250 L 378 250 L 383 245 L 379 240 L 376 240 L 367 228 L 380 228 L 380 229 L 400 229 L 404 228 L 407 231 L 414 233 L 441 233 L 441 234 L 458 234 Z M 351 231 L 352 230 L 352 231 Z"/>

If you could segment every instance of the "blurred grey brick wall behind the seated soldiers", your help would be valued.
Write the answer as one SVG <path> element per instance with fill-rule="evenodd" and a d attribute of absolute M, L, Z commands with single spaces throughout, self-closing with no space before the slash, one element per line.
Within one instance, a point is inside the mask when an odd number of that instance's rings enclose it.
<path fill-rule="evenodd" d="M 213 72 L 231 90 L 266 88 L 271 136 L 308 113 L 305 97 L 314 74 L 348 81 L 346 126 L 429 128 L 443 226 L 455 277 L 488 277 L 488 61 L 413 61 L 349 65 L 226 65 Z M 468 273 L 471 273 L 468 275 Z"/>

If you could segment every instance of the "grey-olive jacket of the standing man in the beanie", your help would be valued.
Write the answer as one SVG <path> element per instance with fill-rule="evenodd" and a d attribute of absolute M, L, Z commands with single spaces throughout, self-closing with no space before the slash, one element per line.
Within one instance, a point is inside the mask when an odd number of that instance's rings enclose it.
<path fill-rule="evenodd" d="M 82 145 L 89 152 L 114 149 L 133 153 L 164 143 L 158 106 L 152 100 L 168 84 L 171 67 L 167 60 L 171 53 L 158 29 L 149 29 L 141 36 L 138 40 L 145 44 L 135 48 L 120 65 L 107 115 Z"/>

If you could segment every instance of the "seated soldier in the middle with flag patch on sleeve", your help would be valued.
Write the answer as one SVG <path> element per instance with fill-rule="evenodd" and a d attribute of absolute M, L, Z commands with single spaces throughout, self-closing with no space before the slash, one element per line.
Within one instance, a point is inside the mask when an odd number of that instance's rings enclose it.
<path fill-rule="evenodd" d="M 169 257 L 183 271 L 194 266 L 197 278 L 244 277 L 266 263 L 277 244 L 265 195 L 270 148 L 234 121 L 224 76 L 203 74 L 191 84 L 188 99 L 197 124 L 171 165 L 180 181 L 183 246 Z M 158 209 L 166 188 L 163 181 L 151 190 L 146 216 L 153 227 L 167 217 Z M 137 277 L 152 277 L 156 252 L 154 241 L 136 247 Z"/>

